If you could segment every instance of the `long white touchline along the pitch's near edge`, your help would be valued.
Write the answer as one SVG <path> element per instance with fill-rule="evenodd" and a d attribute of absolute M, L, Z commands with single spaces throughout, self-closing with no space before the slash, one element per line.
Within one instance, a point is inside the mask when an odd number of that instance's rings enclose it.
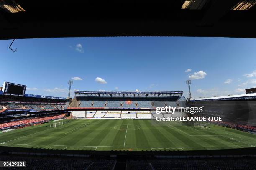
<path fill-rule="evenodd" d="M 123 146 L 84 146 L 84 145 L 39 145 L 39 144 L 18 144 L 18 143 L 1 143 L 5 145 L 37 145 L 37 146 L 63 146 L 63 147 L 123 147 Z M 248 146 L 229 146 L 229 147 L 140 147 L 140 146 L 125 146 L 134 148 L 233 148 L 233 147 L 248 147 Z"/>

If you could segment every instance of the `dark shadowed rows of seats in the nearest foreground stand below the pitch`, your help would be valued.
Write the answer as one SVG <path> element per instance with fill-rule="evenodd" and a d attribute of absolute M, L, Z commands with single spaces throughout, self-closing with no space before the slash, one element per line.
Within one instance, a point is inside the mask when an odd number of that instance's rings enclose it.
<path fill-rule="evenodd" d="M 83 157 L 44 157 L 28 155 L 0 155 L 0 161 L 26 161 L 26 169 L 45 170 L 114 170 L 116 159 L 90 159 Z M 255 157 L 191 158 L 191 159 L 127 159 L 126 170 L 255 170 Z"/>

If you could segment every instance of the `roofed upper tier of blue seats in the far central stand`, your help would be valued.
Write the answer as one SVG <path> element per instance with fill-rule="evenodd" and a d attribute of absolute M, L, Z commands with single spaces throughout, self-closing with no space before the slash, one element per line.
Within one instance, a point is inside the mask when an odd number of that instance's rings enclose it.
<path fill-rule="evenodd" d="M 156 108 L 185 105 L 187 100 L 177 92 L 93 92 L 75 91 L 70 107 Z M 148 96 L 148 97 L 147 97 Z"/>

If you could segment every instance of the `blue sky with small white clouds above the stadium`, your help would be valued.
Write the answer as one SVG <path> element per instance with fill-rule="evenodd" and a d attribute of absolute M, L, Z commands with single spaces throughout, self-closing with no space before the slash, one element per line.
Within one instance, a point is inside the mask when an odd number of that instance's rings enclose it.
<path fill-rule="evenodd" d="M 84 91 L 178 91 L 192 97 L 244 94 L 256 86 L 256 40 L 113 37 L 0 41 L 3 81 L 28 94 L 67 96 L 68 80 Z M 189 70 L 190 69 L 190 70 Z M 187 72 L 186 72 L 187 71 Z"/>

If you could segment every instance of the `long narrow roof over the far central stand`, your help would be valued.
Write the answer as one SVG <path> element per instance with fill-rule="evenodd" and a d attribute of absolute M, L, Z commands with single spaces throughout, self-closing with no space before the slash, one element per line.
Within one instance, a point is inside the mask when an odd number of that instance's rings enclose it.
<path fill-rule="evenodd" d="M 75 91 L 79 97 L 172 97 L 182 96 L 183 91 L 129 92 L 129 91 Z"/>

